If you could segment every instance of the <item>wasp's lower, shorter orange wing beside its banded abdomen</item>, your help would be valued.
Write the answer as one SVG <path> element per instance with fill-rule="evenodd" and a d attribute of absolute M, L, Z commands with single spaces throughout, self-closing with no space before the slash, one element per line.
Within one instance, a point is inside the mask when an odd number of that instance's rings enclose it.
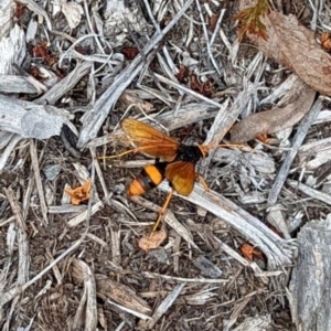
<path fill-rule="evenodd" d="M 195 164 L 191 162 L 177 161 L 166 168 L 166 178 L 175 192 L 189 195 L 195 182 Z"/>

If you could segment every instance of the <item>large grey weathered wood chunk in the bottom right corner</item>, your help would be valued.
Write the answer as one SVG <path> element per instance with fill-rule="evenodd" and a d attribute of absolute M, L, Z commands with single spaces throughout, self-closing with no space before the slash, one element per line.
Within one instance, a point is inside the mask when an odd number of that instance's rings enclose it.
<path fill-rule="evenodd" d="M 331 214 L 311 221 L 298 234 L 299 258 L 292 270 L 288 298 L 300 331 L 331 330 Z"/>

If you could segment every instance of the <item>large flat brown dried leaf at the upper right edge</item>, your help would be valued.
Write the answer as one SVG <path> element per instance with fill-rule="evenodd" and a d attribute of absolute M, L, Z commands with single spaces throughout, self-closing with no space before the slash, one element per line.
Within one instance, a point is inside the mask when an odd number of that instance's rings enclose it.
<path fill-rule="evenodd" d="M 295 72 L 308 86 L 331 95 L 331 56 L 295 15 L 271 11 L 261 18 L 268 40 L 247 34 L 267 56 Z"/>

